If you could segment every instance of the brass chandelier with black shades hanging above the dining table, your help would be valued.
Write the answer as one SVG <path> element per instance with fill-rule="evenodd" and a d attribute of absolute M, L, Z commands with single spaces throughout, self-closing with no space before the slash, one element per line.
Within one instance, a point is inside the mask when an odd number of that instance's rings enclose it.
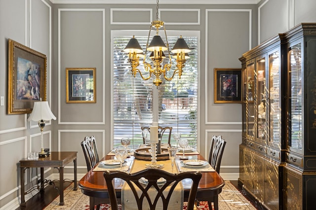
<path fill-rule="evenodd" d="M 188 52 L 190 52 L 190 48 L 188 47 L 186 41 L 182 36 L 180 35 L 180 38 L 176 41 L 175 45 L 173 46 L 171 52 L 174 53 L 172 55 L 172 58 L 176 59 L 176 69 L 173 71 L 173 74 L 171 77 L 167 77 L 166 72 L 169 71 L 172 67 L 172 61 L 171 61 L 171 54 L 169 51 L 169 44 L 168 44 L 168 38 L 167 38 L 167 33 L 164 28 L 164 22 L 160 21 L 158 18 L 158 1 L 157 0 L 157 13 L 156 13 L 156 20 L 151 22 L 151 26 L 149 29 L 149 35 L 147 39 L 147 44 L 146 44 L 146 50 L 145 54 L 143 54 L 143 49 L 141 48 L 138 40 L 133 37 L 129 40 L 128 44 L 124 48 L 124 52 L 128 53 L 128 62 L 130 63 L 132 69 L 132 74 L 134 77 L 136 77 L 137 72 L 139 72 L 140 76 L 142 77 L 143 80 L 148 80 L 151 78 L 152 74 L 155 75 L 155 79 L 153 79 L 153 84 L 158 86 L 162 83 L 160 76 L 163 75 L 164 79 L 167 81 L 171 81 L 174 77 L 174 75 L 178 74 L 179 79 L 181 78 L 182 75 L 182 69 L 185 66 L 185 63 L 187 59 L 189 59 Z M 166 44 L 163 42 L 162 38 L 160 37 L 159 29 L 163 27 L 164 35 L 166 37 Z M 149 43 L 149 38 L 150 38 L 150 33 L 152 31 L 152 28 L 156 29 L 156 35 L 153 37 L 151 40 L 150 44 Z M 163 67 L 161 65 L 162 61 L 166 56 L 164 55 L 163 51 L 168 51 L 168 58 L 169 62 L 165 64 Z M 147 51 L 151 51 L 151 54 L 147 55 Z M 149 76 L 144 77 L 142 72 L 138 69 L 139 66 L 139 60 L 140 58 L 143 58 L 143 66 L 145 71 L 149 71 Z M 151 63 L 148 63 L 146 60 L 151 60 Z"/>

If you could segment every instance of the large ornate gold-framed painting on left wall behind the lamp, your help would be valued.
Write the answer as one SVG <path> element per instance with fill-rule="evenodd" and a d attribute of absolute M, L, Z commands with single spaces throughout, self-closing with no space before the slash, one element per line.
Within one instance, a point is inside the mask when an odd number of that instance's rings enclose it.
<path fill-rule="evenodd" d="M 46 55 L 8 39 L 7 114 L 28 114 L 46 101 Z"/>

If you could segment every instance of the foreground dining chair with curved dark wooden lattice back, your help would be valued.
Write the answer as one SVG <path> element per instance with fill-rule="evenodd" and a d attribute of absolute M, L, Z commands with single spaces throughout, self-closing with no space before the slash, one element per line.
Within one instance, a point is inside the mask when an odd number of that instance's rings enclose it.
<path fill-rule="evenodd" d="M 140 179 L 144 177 L 148 180 L 147 185 L 140 183 Z M 159 178 L 163 177 L 166 181 L 163 185 L 157 184 Z M 112 210 L 118 209 L 118 201 L 116 197 L 116 191 L 113 185 L 114 178 L 123 179 L 131 188 L 133 195 L 135 196 L 137 207 L 139 210 L 142 210 L 142 205 L 144 199 L 148 201 L 151 210 L 156 209 L 156 205 L 159 199 L 162 201 L 163 210 L 167 210 L 170 197 L 174 192 L 176 185 L 181 182 L 183 179 L 190 178 L 192 179 L 192 187 L 190 189 L 189 198 L 188 198 L 188 210 L 193 210 L 195 198 L 197 195 L 197 186 L 198 182 L 201 179 L 202 174 L 200 172 L 183 172 L 179 174 L 170 174 L 161 169 L 148 168 L 142 171 L 127 174 L 120 171 L 104 172 L 104 178 L 108 186 L 108 192 L 111 202 Z M 170 186 L 170 189 L 167 187 Z M 150 188 L 156 188 L 157 194 L 151 199 L 148 190 Z M 165 190 L 167 188 L 167 190 Z M 124 201 L 121 201 L 124 202 Z"/>

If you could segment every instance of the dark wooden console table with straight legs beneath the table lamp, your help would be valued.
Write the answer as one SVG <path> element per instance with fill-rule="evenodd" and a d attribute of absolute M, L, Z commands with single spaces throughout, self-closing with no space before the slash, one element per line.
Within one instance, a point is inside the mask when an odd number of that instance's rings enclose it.
<path fill-rule="evenodd" d="M 52 167 L 59 168 L 59 205 L 64 205 L 64 167 L 71 161 L 74 162 L 74 190 L 77 190 L 77 152 L 50 152 L 50 155 L 38 160 L 20 160 L 21 170 L 21 204 L 26 206 L 25 202 L 25 186 L 24 186 L 24 172 L 27 168 L 40 168 L 40 191 L 44 191 L 44 168 Z"/>

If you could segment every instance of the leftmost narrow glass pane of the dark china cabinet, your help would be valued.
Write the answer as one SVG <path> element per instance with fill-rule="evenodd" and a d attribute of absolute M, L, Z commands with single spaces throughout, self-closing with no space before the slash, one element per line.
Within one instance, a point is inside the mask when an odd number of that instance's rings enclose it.
<path fill-rule="evenodd" d="M 254 131 L 254 63 L 247 65 L 247 87 L 246 87 L 246 120 L 247 120 L 247 134 L 255 137 Z"/>

